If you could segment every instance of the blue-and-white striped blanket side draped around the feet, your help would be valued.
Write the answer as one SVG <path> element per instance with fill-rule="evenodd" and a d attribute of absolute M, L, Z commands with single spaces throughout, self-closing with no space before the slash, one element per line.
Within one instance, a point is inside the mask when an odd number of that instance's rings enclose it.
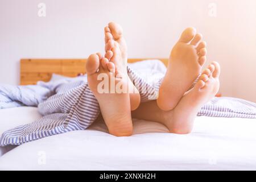
<path fill-rule="evenodd" d="M 127 71 L 141 94 L 141 101 L 155 100 L 162 79 L 146 81 L 133 69 L 128 67 Z M 100 107 L 87 82 L 80 80 L 59 84 L 55 92 L 38 104 L 42 118 L 5 131 L 0 137 L 0 146 L 19 145 L 68 131 L 85 130 L 96 121 Z M 256 118 L 256 104 L 238 98 L 215 97 L 197 115 Z"/>

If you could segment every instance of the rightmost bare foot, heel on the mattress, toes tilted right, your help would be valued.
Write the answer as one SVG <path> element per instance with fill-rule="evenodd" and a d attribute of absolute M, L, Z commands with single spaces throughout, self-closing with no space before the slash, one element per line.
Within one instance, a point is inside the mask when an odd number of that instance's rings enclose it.
<path fill-rule="evenodd" d="M 201 107 L 213 98 L 220 88 L 220 65 L 213 62 L 202 73 L 195 87 L 189 90 L 174 110 L 167 111 L 164 124 L 171 133 L 187 134 L 193 127 L 193 121 Z"/>

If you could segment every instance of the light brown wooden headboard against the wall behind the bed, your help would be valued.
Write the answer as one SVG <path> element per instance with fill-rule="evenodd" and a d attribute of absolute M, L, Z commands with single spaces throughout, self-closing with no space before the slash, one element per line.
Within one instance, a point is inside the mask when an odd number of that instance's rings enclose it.
<path fill-rule="evenodd" d="M 135 63 L 146 59 L 128 59 Z M 167 65 L 168 59 L 159 59 Z M 38 81 L 49 81 L 52 73 L 76 77 L 86 73 L 86 59 L 21 59 L 20 85 L 34 85 Z"/>

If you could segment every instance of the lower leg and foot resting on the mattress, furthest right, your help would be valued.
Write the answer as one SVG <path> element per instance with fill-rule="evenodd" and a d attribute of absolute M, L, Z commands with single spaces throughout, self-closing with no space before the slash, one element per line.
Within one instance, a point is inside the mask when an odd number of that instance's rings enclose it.
<path fill-rule="evenodd" d="M 164 111 L 159 109 L 156 101 L 150 101 L 142 103 L 132 115 L 134 118 L 160 122 L 166 125 L 171 133 L 190 133 L 196 114 L 218 92 L 219 75 L 220 65 L 213 62 L 202 73 L 195 87 L 184 94 L 173 110 Z"/>

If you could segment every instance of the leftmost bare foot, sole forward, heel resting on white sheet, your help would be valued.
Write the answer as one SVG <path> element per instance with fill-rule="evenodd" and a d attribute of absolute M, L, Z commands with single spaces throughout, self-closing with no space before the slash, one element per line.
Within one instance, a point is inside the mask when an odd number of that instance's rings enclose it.
<path fill-rule="evenodd" d="M 110 54 L 115 60 L 120 60 L 121 51 L 119 47 L 114 46 L 113 52 Z M 112 59 L 110 56 L 110 59 Z M 122 61 L 122 60 L 121 60 Z M 125 67 L 125 65 L 123 65 Z M 114 78 L 114 87 L 117 85 L 127 86 L 127 79 L 121 64 L 118 67 L 110 62 L 106 57 L 102 57 L 100 53 L 90 55 L 86 62 L 86 71 L 88 74 L 88 84 L 94 96 L 100 105 L 101 114 L 104 118 L 109 133 L 117 137 L 129 136 L 133 133 L 133 124 L 131 121 L 130 96 L 129 93 L 113 92 L 111 84 Z M 120 77 L 115 77 L 115 69 L 120 72 Z M 111 72 L 110 72 L 111 70 Z M 100 87 L 102 80 L 107 83 L 104 87 Z M 104 89 L 106 92 L 102 92 Z"/>

